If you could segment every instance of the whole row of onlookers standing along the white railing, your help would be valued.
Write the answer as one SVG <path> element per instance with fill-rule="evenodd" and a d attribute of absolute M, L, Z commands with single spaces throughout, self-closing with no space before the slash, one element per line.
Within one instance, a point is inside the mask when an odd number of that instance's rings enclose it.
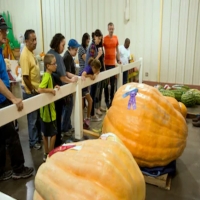
<path fill-rule="evenodd" d="M 5 20 L 0 16 L 0 46 L 6 42 L 9 27 Z M 35 31 L 26 30 L 24 34 L 25 46 L 20 55 L 20 66 L 22 71 L 22 93 L 23 99 L 31 98 L 39 93 L 51 93 L 56 95 L 56 90 L 60 86 L 68 83 L 75 83 L 78 76 L 82 81 L 89 77 L 94 80 L 97 75 L 110 70 L 116 63 L 127 64 L 130 56 L 130 40 L 127 38 L 124 45 L 119 46 L 118 38 L 114 35 L 114 24 L 108 24 L 108 35 L 103 37 L 102 32 L 97 29 L 90 35 L 83 34 L 82 43 L 79 44 L 75 39 L 68 41 L 68 48 L 65 49 L 65 37 L 61 33 L 53 36 L 50 42 L 50 49 L 44 57 L 45 73 L 40 76 L 40 68 L 33 51 L 37 46 Z M 74 57 L 78 53 L 79 71 L 76 73 Z M 87 114 L 83 126 L 88 128 L 90 121 L 100 121 L 102 112 L 105 111 L 101 106 L 102 92 L 104 90 L 105 103 L 107 108 L 112 104 L 115 92 L 115 76 L 107 81 L 93 84 L 90 88 L 83 88 L 83 109 L 86 108 Z M 123 74 L 124 83 L 127 82 L 128 74 Z M 110 85 L 110 91 L 108 89 Z M 0 48 L 0 108 L 16 104 L 18 110 L 23 109 L 23 102 L 16 98 L 10 91 L 9 78 L 7 75 L 5 62 Z M 62 99 L 51 103 L 40 110 L 33 111 L 27 115 L 29 146 L 31 149 L 41 149 L 41 140 L 44 144 L 45 161 L 49 151 L 62 144 L 62 133 L 71 136 L 73 127 L 71 114 L 73 110 L 73 95 L 68 95 Z M 33 168 L 24 166 L 24 156 L 17 131 L 12 122 L 0 127 L 0 180 L 9 178 L 26 178 L 32 175 Z M 50 137 L 50 144 L 48 144 Z M 5 171 L 6 147 L 11 158 L 12 171 Z"/>

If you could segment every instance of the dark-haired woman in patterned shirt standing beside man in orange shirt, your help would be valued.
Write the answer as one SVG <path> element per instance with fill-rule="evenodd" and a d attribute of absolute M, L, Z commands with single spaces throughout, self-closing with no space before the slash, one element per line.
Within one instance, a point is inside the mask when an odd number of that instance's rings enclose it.
<path fill-rule="evenodd" d="M 101 57 L 102 55 L 102 48 L 97 48 L 97 46 L 100 44 L 101 40 L 102 40 L 102 33 L 99 29 L 97 29 L 95 32 L 92 33 L 92 43 L 90 44 L 90 46 L 87 49 L 87 54 L 86 54 L 86 60 L 85 60 L 85 66 L 88 65 L 88 61 L 89 59 L 95 58 L 98 59 Z M 96 95 L 96 89 L 97 89 L 97 84 L 93 84 L 91 85 L 90 88 L 90 96 L 93 99 L 93 103 L 92 103 L 92 110 L 91 110 L 91 121 L 97 122 L 102 120 L 101 118 L 99 118 L 97 115 L 95 115 L 95 109 L 94 109 L 94 105 L 96 103 L 96 99 L 95 99 L 95 95 Z"/>

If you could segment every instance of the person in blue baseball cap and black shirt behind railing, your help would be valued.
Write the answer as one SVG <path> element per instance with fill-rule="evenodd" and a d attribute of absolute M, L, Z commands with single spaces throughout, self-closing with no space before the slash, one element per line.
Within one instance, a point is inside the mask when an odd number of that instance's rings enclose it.
<path fill-rule="evenodd" d="M 80 44 L 74 39 L 69 40 L 68 42 L 68 50 L 65 52 L 63 61 L 66 69 L 66 76 L 68 78 L 72 78 L 76 74 L 76 67 L 74 58 L 78 52 Z M 73 132 L 71 125 L 71 114 L 73 109 L 73 95 L 68 95 L 66 97 L 66 105 L 63 108 L 62 115 L 62 126 L 61 130 L 66 135 L 70 136 Z"/>

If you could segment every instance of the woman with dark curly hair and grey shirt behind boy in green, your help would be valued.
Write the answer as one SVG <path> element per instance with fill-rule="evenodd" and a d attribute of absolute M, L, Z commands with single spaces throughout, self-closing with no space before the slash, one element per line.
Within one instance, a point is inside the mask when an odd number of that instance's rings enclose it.
<path fill-rule="evenodd" d="M 62 86 L 65 83 L 77 82 L 78 78 L 76 76 L 68 78 L 66 76 L 65 65 L 63 58 L 60 55 L 65 48 L 65 37 L 61 33 L 57 33 L 51 40 L 51 49 L 47 52 L 48 54 L 53 54 L 56 58 L 57 69 L 56 72 L 52 73 L 52 78 L 54 85 Z M 64 104 L 64 99 L 59 99 L 55 102 L 56 109 L 56 123 L 57 123 L 57 137 L 55 142 L 55 147 L 62 144 L 61 140 L 61 116 L 62 108 Z"/>

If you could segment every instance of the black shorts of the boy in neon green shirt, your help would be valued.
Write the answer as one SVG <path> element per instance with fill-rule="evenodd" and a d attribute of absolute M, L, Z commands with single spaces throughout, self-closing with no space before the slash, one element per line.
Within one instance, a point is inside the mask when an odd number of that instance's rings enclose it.
<path fill-rule="evenodd" d="M 57 134 L 56 121 L 43 122 L 41 120 L 41 131 L 45 137 L 52 137 Z"/>

